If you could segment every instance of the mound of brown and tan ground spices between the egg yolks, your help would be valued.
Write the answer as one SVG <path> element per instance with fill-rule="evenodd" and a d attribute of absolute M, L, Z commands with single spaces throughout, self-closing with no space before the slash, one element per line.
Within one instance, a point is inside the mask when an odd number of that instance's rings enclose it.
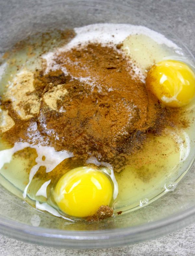
<path fill-rule="evenodd" d="M 24 81 L 2 101 L 14 124 L 4 138 L 45 143 L 84 161 L 94 156 L 120 171 L 147 133 L 161 133 L 170 111 L 146 89 L 119 48 L 78 45 L 57 52 L 50 69 L 36 70 L 34 77 L 24 72 Z"/>

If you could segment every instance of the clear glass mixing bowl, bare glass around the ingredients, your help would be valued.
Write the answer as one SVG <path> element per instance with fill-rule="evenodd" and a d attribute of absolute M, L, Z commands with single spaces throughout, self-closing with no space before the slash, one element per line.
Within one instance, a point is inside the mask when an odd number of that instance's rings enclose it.
<path fill-rule="evenodd" d="M 132 6 L 107 1 L 63 1 L 22 7 L 15 16 L 0 24 L 0 51 L 3 54 L 17 41 L 50 28 L 78 27 L 94 23 L 129 23 L 144 25 L 164 34 L 185 48 L 173 35 L 170 26 L 163 27 L 136 11 Z M 4 2 L 6 5 L 6 2 Z M 14 6 L 12 6 L 14 8 Z M 7 8 L 8 9 L 8 8 Z M 187 48 L 189 58 L 193 58 Z M 194 162 L 194 147 L 184 171 Z M 0 232 L 24 241 L 69 248 L 102 248 L 130 244 L 181 228 L 195 219 L 195 172 L 191 168 L 174 191 L 139 210 L 93 223 L 67 223 L 61 218 L 33 209 L 0 186 Z"/>

